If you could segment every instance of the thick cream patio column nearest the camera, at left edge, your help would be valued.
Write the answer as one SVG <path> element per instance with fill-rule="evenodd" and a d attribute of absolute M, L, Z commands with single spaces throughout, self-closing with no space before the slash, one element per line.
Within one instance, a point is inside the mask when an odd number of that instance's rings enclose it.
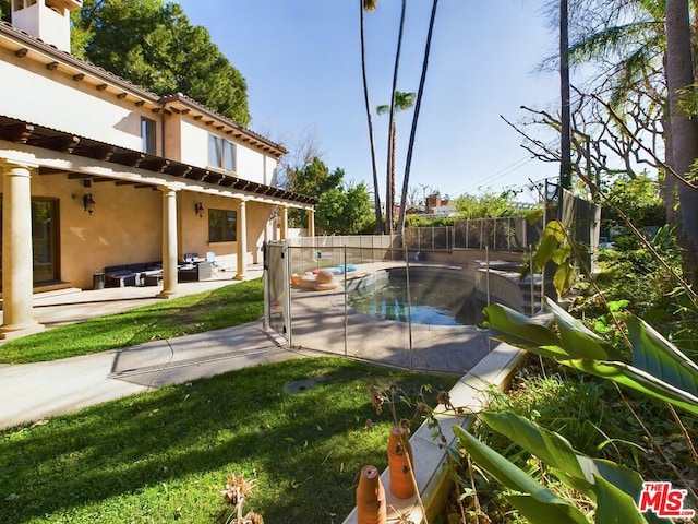
<path fill-rule="evenodd" d="M 0 338 L 41 331 L 34 319 L 32 249 L 32 169 L 36 165 L 3 162 L 2 170 L 2 325 Z"/>

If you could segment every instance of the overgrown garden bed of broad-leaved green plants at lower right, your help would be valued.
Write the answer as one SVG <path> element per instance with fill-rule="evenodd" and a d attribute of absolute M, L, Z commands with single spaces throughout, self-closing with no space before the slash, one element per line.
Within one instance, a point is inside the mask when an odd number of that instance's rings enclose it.
<path fill-rule="evenodd" d="M 577 282 L 574 242 L 559 223 L 545 235 L 537 259 L 564 270 L 555 278 L 564 294 Z M 472 434 L 457 430 L 468 456 L 460 490 L 474 522 L 667 522 L 639 512 L 643 480 L 684 489 L 682 510 L 698 507 L 695 353 L 629 311 L 693 343 L 698 305 L 681 262 L 669 226 L 609 251 L 601 275 L 587 274 L 575 291 L 586 325 L 551 301 L 552 329 L 502 306 L 485 309 L 493 335 L 545 360 L 529 356 L 512 391 L 493 392 Z"/>

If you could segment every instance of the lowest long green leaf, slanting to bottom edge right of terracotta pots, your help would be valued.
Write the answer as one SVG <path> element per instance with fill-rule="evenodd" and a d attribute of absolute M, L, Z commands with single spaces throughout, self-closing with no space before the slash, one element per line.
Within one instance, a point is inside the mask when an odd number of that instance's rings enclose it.
<path fill-rule="evenodd" d="M 552 491 L 535 481 L 530 475 L 509 462 L 506 457 L 482 443 L 465 429 L 456 426 L 454 432 L 460 445 L 470 454 L 472 460 L 483 469 L 495 477 L 509 489 L 528 493 L 526 502 L 519 511 L 533 523 L 568 522 L 589 524 L 585 515 L 574 505 L 555 496 Z M 513 496 L 512 503 L 519 502 Z M 518 507 L 517 507 L 518 508 Z"/>

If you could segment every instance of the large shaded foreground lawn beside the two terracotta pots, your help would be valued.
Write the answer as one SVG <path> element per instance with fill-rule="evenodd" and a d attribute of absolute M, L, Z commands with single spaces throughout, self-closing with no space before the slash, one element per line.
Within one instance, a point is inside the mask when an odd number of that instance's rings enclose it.
<path fill-rule="evenodd" d="M 285 391 L 309 377 L 322 381 Z M 392 424 L 387 413 L 376 417 L 369 385 L 410 393 L 431 384 L 435 395 L 454 382 L 304 358 L 11 428 L 0 433 L 0 522 L 212 523 L 236 473 L 257 480 L 244 510 L 267 524 L 339 523 L 361 467 L 386 466 Z M 368 418 L 380 422 L 372 431 Z"/>

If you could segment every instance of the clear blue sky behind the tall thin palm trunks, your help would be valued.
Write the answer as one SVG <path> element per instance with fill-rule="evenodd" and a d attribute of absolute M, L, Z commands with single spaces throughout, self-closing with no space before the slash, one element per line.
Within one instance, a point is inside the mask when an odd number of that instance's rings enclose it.
<path fill-rule="evenodd" d="M 311 133 L 325 164 L 372 189 L 358 0 L 178 0 L 190 22 L 248 82 L 251 129 L 290 146 Z M 380 0 L 366 13 L 371 106 L 388 104 L 400 14 L 399 0 Z M 416 92 L 431 11 L 408 2 L 398 90 Z M 533 0 L 441 0 L 420 111 L 410 187 L 442 195 L 477 194 L 556 177 L 556 165 L 530 159 L 517 122 L 521 105 L 555 110 L 558 76 L 537 73 L 554 52 L 552 32 Z M 398 194 L 412 111 L 398 116 Z M 381 195 L 387 116 L 375 116 Z M 529 200 L 521 194 L 521 200 Z"/>

